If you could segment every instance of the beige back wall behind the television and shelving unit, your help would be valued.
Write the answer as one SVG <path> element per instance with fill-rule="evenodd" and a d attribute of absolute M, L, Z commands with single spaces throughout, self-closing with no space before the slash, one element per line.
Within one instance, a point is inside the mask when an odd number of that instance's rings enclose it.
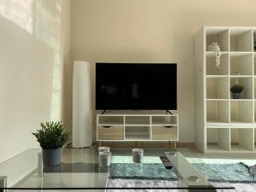
<path fill-rule="evenodd" d="M 256 26 L 255 0 L 72 1 L 72 61 L 177 62 L 180 140 L 194 141 L 193 37 L 202 26 Z M 94 79 L 94 77 L 92 77 Z"/>

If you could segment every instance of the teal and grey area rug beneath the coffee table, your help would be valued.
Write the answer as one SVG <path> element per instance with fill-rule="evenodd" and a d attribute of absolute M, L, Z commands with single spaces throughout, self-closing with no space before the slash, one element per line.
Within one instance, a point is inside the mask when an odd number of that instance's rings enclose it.
<path fill-rule="evenodd" d="M 221 180 L 218 179 L 218 176 L 214 172 L 218 172 L 226 181 L 235 187 L 235 189 L 218 189 L 218 192 L 243 192 L 243 191 L 256 191 L 256 179 L 248 172 L 247 166 L 243 163 L 234 163 L 234 164 L 193 164 L 195 168 L 201 172 L 213 186 L 223 186 Z M 128 165 L 127 165 L 128 166 Z M 151 166 L 151 168 L 150 168 Z M 155 166 L 153 168 L 153 166 Z M 152 172 L 141 172 L 140 174 L 135 174 L 135 172 L 127 172 L 127 169 L 133 169 L 134 167 L 125 167 L 125 172 L 122 172 L 121 165 L 113 165 L 113 170 L 110 169 L 110 178 L 108 179 L 109 188 L 137 188 L 141 186 L 148 186 L 148 188 L 176 188 L 177 181 L 175 181 L 175 172 L 172 172 L 170 175 L 166 172 L 170 170 L 165 170 L 164 174 L 169 177 L 169 179 L 161 179 L 160 170 L 162 167 L 158 164 L 148 165 L 147 170 L 152 170 Z M 212 172 L 212 170 L 214 172 Z M 155 174 L 154 174 L 155 172 Z M 173 174 L 173 175 L 172 175 Z M 132 178 L 135 176 L 136 178 Z M 148 177 L 150 176 L 150 177 Z M 172 177 L 171 177 L 172 176 Z M 153 179 L 152 179 L 153 178 Z M 117 189 L 108 189 L 107 192 L 117 192 Z M 123 192 L 153 192 L 154 189 L 125 189 Z M 158 189 L 160 192 L 170 192 L 171 189 Z M 172 191 L 188 191 L 186 189 L 172 189 Z"/>

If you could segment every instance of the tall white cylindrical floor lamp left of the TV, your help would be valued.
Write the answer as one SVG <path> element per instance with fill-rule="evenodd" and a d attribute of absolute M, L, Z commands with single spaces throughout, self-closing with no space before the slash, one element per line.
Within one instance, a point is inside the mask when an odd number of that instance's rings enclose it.
<path fill-rule="evenodd" d="M 73 67 L 73 148 L 92 143 L 92 108 L 90 93 L 90 64 L 74 61 Z"/>

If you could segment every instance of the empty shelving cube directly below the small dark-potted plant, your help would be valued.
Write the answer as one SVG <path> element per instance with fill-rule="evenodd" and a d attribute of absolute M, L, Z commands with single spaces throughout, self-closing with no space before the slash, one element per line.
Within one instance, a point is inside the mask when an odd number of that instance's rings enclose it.
<path fill-rule="evenodd" d="M 253 100 L 230 102 L 231 123 L 253 123 Z"/>

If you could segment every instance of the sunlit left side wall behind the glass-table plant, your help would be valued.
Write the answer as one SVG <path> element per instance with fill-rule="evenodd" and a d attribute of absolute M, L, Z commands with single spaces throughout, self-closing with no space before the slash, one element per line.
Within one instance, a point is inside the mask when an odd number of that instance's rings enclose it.
<path fill-rule="evenodd" d="M 2 162 L 38 147 L 40 122 L 71 127 L 70 0 L 2 0 L 0 29 Z"/>

